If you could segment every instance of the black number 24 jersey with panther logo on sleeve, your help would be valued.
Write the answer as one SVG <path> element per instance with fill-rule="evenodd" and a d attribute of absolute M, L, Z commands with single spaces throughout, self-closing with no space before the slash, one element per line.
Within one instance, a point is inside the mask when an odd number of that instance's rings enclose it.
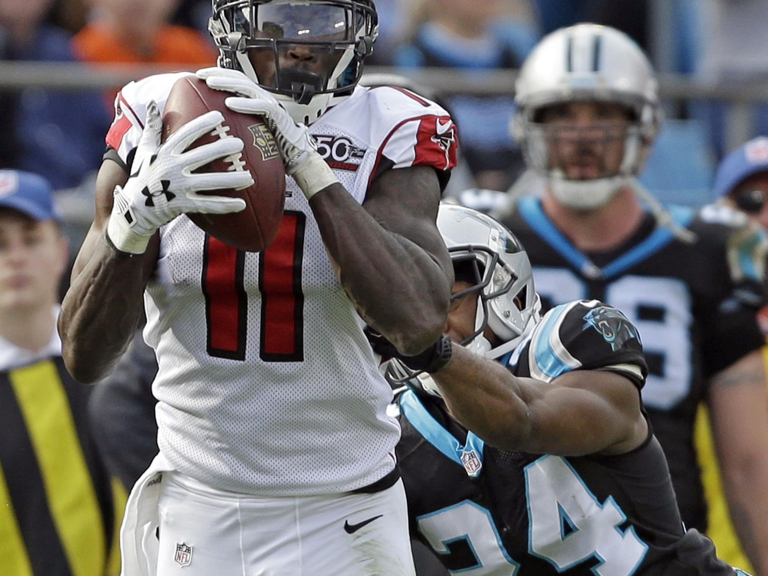
<path fill-rule="evenodd" d="M 545 381 L 570 370 L 610 370 L 638 389 L 646 374 L 637 329 L 597 301 L 557 306 L 502 362 L 517 376 Z M 627 454 L 565 458 L 484 445 L 439 399 L 409 390 L 398 405 L 411 533 L 452 573 L 735 574 L 707 538 L 684 532 L 650 430 Z"/>

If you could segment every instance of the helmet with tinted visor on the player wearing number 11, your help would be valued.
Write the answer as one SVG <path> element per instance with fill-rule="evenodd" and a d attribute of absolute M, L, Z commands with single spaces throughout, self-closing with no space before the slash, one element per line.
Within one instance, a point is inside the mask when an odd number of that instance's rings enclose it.
<path fill-rule="evenodd" d="M 349 97 L 379 35 L 373 0 L 213 0 L 213 10 L 208 29 L 218 65 L 243 71 L 308 125 Z M 325 69 L 281 66 L 296 46 L 311 47 Z M 274 78 L 259 78 L 250 50 L 271 51 Z"/>

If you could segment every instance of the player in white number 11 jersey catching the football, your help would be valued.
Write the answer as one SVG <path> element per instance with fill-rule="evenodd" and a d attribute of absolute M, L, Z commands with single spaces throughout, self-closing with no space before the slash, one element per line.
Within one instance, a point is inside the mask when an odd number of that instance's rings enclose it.
<path fill-rule="evenodd" d="M 192 170 L 242 141 L 185 151 L 222 121 L 211 111 L 160 144 L 184 73 L 118 94 L 60 331 L 68 368 L 94 382 L 146 310 L 160 454 L 128 502 L 123 573 L 412 574 L 399 425 L 362 328 L 406 354 L 442 333 L 452 266 L 435 215 L 455 127 L 409 91 L 356 85 L 371 0 L 213 5 L 219 67 L 197 75 L 266 118 L 286 207 L 262 253 L 209 237 L 187 213 L 244 203 L 197 193 L 251 175 Z"/>

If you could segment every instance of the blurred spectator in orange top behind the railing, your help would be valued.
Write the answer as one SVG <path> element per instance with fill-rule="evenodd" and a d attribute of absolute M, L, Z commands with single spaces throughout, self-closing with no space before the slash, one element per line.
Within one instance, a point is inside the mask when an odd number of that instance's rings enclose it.
<path fill-rule="evenodd" d="M 179 0 L 91 0 L 91 22 L 74 36 L 88 62 L 214 65 L 217 52 L 200 31 L 168 22 Z"/>

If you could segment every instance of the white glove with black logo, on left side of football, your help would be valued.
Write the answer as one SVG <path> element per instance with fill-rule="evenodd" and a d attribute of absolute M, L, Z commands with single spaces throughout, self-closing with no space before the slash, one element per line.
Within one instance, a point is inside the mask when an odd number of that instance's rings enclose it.
<path fill-rule="evenodd" d="M 230 214 L 246 206 L 242 198 L 198 194 L 202 190 L 234 188 L 253 184 L 249 170 L 192 174 L 192 170 L 217 158 L 237 161 L 243 141 L 223 131 L 220 140 L 187 151 L 197 138 L 223 123 L 219 111 L 210 111 L 187 122 L 160 144 L 163 121 L 154 101 L 147 106 L 147 120 L 136 149 L 133 169 L 124 187 L 114 188 L 107 236 L 118 250 L 141 254 L 152 234 L 187 212 Z"/>

